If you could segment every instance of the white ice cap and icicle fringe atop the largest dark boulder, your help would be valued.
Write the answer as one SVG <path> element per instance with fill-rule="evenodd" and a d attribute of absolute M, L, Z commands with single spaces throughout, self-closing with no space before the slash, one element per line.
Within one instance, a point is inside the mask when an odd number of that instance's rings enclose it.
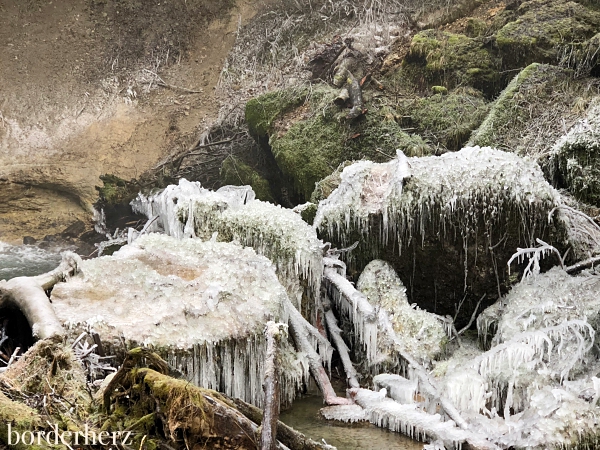
<path fill-rule="evenodd" d="M 489 147 L 439 157 L 399 153 L 384 164 L 348 166 L 341 178 L 320 202 L 314 226 L 344 245 L 358 234 L 374 245 L 393 240 L 402 251 L 427 234 L 468 239 L 482 224 L 496 243 L 515 216 L 519 235 L 529 243 L 542 235 L 547 212 L 561 203 L 535 162 Z M 374 216 L 381 216 L 378 229 L 371 229 Z"/>

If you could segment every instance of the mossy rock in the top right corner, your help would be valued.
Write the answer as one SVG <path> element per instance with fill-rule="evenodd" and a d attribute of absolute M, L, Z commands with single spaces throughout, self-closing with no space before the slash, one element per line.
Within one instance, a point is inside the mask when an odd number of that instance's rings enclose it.
<path fill-rule="evenodd" d="M 598 32 L 600 13 L 580 3 L 531 0 L 516 11 L 518 18 L 496 34 L 505 65 L 555 63 L 561 47 L 583 41 Z"/>

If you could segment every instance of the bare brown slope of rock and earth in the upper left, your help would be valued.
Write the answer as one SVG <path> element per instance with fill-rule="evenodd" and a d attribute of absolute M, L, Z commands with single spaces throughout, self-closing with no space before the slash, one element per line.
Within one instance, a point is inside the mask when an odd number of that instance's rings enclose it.
<path fill-rule="evenodd" d="M 216 109 L 212 88 L 238 15 L 202 34 L 231 6 L 2 2 L 0 240 L 89 222 L 100 175 L 135 178 L 196 133 Z M 177 99 L 144 68 L 206 93 Z"/>

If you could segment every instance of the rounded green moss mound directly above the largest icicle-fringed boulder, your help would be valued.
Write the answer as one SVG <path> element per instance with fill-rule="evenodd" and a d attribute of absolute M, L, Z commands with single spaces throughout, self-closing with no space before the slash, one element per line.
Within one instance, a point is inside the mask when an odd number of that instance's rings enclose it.
<path fill-rule="evenodd" d="M 458 88 L 448 95 L 435 94 L 406 102 L 401 109 L 409 125 L 428 140 L 456 151 L 483 121 L 489 108 L 480 92 Z"/>

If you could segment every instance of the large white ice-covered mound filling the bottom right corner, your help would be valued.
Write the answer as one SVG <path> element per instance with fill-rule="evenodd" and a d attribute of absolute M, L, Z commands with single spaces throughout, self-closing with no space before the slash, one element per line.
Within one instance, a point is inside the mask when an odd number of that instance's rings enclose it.
<path fill-rule="evenodd" d="M 457 351 L 434 370 L 473 429 L 503 448 L 597 442 L 599 289 L 597 275 L 554 268 L 481 314 L 489 350 Z"/>

